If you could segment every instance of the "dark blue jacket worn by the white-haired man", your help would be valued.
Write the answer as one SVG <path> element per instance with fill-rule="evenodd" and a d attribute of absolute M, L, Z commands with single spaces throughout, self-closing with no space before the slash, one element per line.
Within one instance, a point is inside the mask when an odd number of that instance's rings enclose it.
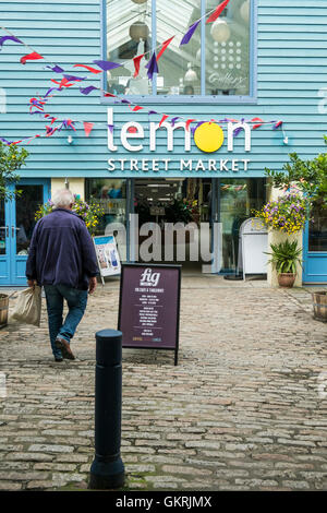
<path fill-rule="evenodd" d="M 94 243 L 82 217 L 56 208 L 37 222 L 26 264 L 28 279 L 86 290 L 88 278 L 97 274 Z"/>

